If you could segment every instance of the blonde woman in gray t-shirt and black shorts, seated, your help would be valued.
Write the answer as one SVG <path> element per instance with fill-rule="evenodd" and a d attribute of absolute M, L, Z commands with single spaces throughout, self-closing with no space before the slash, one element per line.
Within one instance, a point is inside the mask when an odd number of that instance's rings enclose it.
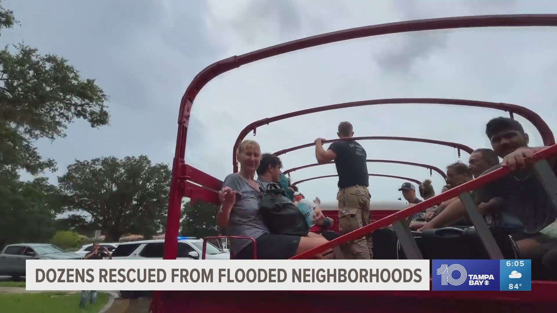
<path fill-rule="evenodd" d="M 217 214 L 219 227 L 225 227 L 229 235 L 254 238 L 257 258 L 260 259 L 287 259 L 328 242 L 324 238 L 270 234 L 259 212 L 261 190 L 266 187 L 266 182 L 255 180 L 261 162 L 260 146 L 256 141 L 244 140 L 237 154 L 240 172 L 228 175 L 219 191 L 222 203 Z M 280 166 L 277 165 L 269 164 L 268 169 L 278 180 Z M 253 258 L 252 249 L 252 243 L 247 239 L 231 240 L 231 252 L 235 258 Z"/>

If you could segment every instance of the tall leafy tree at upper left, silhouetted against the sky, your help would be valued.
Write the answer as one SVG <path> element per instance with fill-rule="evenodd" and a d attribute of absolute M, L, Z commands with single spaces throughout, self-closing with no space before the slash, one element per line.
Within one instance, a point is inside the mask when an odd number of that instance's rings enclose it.
<path fill-rule="evenodd" d="M 12 28 L 18 22 L 1 3 L 0 30 Z M 0 169 L 56 170 L 55 161 L 43 160 L 33 142 L 64 137 L 76 118 L 95 128 L 107 125 L 106 100 L 95 80 L 82 79 L 65 58 L 7 45 L 0 50 Z"/>

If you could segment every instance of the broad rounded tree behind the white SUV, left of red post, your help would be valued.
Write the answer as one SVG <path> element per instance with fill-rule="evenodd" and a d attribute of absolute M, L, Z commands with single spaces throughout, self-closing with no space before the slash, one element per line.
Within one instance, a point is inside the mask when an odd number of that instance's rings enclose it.
<path fill-rule="evenodd" d="M 152 236 L 164 226 L 171 172 L 152 165 L 145 155 L 79 161 L 58 177 L 66 211 L 87 212 L 106 234 L 118 241 L 124 233 Z"/>

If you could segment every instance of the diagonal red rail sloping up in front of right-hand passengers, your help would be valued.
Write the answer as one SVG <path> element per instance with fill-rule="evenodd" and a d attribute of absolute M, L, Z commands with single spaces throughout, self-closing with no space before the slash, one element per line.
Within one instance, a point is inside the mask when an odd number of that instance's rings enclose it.
<path fill-rule="evenodd" d="M 534 156 L 532 156 L 532 160 L 534 162 L 537 162 L 541 159 L 546 159 L 549 156 L 555 155 L 555 154 L 557 154 L 557 145 L 554 144 L 552 146 L 549 146 L 548 148 L 545 148 L 541 151 L 538 151 L 538 153 L 536 153 Z M 415 204 L 412 207 L 403 209 L 402 211 L 398 211 L 397 213 L 394 213 L 394 214 L 392 214 L 388 217 L 379 219 L 379 221 L 370 223 L 370 224 L 368 224 L 364 227 L 356 229 L 353 232 L 350 232 L 350 233 L 347 233 L 343 236 L 335 238 L 335 239 L 333 239 L 333 240 L 331 240 L 327 243 L 324 243 L 323 245 L 321 245 L 319 247 L 315 247 L 315 248 L 312 248 L 312 249 L 307 250 L 305 252 L 302 252 L 299 255 L 291 257 L 291 259 L 312 258 L 315 255 L 317 255 L 318 253 L 323 253 L 330 248 L 338 246 L 339 244 L 361 238 L 365 234 L 368 234 L 368 233 L 371 233 L 371 232 L 375 231 L 375 229 L 385 227 L 385 226 L 389 226 L 393 222 L 400 221 L 401 219 L 403 219 L 405 217 L 408 217 L 408 216 L 411 216 L 414 213 L 425 211 L 427 208 L 432 207 L 434 204 L 442 203 L 443 201 L 446 201 L 448 199 L 458 197 L 458 195 L 460 195 L 463 192 L 469 192 L 470 190 L 476 189 L 483 184 L 492 182 L 493 180 L 495 180 L 497 178 L 501 178 L 501 177 L 509 174 L 510 172 L 511 171 L 510 171 L 509 168 L 506 168 L 506 167 L 498 168 L 498 169 L 494 170 L 493 172 L 490 172 L 490 173 L 482 175 L 478 178 L 475 178 L 475 179 L 471 180 L 470 182 L 467 182 L 467 183 L 464 183 L 464 184 L 462 184 L 458 187 L 449 189 L 446 192 L 435 195 L 434 197 L 431 197 L 427 200 L 423 200 L 423 202 Z"/>

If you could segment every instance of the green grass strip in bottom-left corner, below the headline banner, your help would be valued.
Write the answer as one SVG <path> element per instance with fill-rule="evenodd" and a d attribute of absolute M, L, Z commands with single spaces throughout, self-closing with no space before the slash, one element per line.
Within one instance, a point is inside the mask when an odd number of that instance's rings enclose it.
<path fill-rule="evenodd" d="M 18 313 L 82 313 L 99 312 L 108 301 L 108 294 L 99 292 L 94 305 L 87 303 L 85 309 L 79 307 L 81 292 L 68 295 L 66 292 L 41 292 L 38 294 L 0 294 L 3 312 Z"/>

